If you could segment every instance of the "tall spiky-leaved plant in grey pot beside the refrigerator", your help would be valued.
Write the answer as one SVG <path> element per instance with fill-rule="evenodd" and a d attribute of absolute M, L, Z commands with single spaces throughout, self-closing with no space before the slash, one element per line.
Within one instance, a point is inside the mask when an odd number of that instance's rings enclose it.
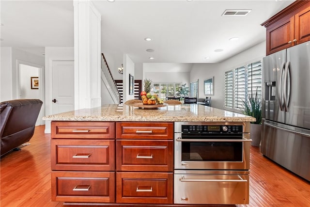
<path fill-rule="evenodd" d="M 255 122 L 250 123 L 250 138 L 253 140 L 251 145 L 259 146 L 262 137 L 262 98 L 256 91 L 248 93 L 248 100 L 243 101 L 243 113 L 256 118 Z"/>

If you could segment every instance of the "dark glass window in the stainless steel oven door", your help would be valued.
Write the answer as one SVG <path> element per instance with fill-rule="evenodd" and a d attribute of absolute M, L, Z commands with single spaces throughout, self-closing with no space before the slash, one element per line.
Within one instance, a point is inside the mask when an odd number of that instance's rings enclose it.
<path fill-rule="evenodd" d="M 182 161 L 242 161 L 242 142 L 182 142 Z"/>

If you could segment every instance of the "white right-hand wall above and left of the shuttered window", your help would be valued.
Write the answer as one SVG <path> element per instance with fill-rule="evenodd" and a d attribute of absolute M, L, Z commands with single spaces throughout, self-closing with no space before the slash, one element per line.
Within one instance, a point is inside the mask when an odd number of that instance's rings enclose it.
<path fill-rule="evenodd" d="M 224 74 L 225 71 L 236 67 L 262 60 L 266 52 L 266 42 L 262 42 L 245 50 L 232 58 L 219 64 L 193 64 L 190 80 L 199 78 L 199 97 L 203 94 L 203 80 L 214 76 L 214 96 L 211 96 L 211 106 L 218 109 L 224 108 Z M 200 78 L 202 77 L 202 78 Z"/>

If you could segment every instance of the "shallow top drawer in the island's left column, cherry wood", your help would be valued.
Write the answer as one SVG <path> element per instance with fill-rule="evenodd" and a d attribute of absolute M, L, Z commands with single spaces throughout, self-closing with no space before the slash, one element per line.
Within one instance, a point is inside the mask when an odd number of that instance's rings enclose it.
<path fill-rule="evenodd" d="M 51 122 L 52 139 L 115 139 L 114 122 Z"/>

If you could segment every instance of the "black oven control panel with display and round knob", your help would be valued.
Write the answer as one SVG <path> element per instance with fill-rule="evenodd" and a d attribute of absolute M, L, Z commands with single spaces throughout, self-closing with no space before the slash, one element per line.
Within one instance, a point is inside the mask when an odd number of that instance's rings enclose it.
<path fill-rule="evenodd" d="M 242 133 L 242 125 L 182 125 L 183 133 Z"/>

